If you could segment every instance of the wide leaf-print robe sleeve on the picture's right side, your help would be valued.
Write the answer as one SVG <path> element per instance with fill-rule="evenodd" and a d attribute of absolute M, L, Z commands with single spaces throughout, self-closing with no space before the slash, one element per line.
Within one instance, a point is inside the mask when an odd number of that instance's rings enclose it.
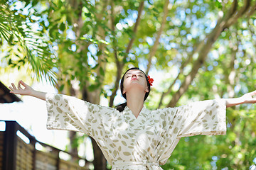
<path fill-rule="evenodd" d="M 176 137 L 193 135 L 225 135 L 225 99 L 192 102 L 178 108 L 169 108 L 168 133 Z"/>

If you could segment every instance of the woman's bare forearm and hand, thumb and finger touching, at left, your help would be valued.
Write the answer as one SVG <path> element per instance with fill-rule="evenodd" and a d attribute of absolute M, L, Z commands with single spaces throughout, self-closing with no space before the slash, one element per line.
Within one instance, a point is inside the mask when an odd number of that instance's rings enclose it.
<path fill-rule="evenodd" d="M 21 85 L 24 87 L 22 88 Z M 46 100 L 46 93 L 41 92 L 41 91 L 35 91 L 32 89 L 31 86 L 28 86 L 28 84 L 25 84 L 22 80 L 18 81 L 18 86 L 16 86 L 12 83 L 11 86 L 9 86 L 11 89 L 10 93 L 12 94 L 20 94 L 20 95 L 27 95 L 27 96 L 33 96 L 36 98 L 40 98 L 42 100 Z"/>

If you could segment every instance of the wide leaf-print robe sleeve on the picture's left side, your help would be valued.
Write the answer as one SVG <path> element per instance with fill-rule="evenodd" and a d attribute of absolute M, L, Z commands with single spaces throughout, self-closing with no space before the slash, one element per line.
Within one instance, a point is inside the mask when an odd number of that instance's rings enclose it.
<path fill-rule="evenodd" d="M 46 94 L 46 108 L 48 129 L 73 130 L 91 135 L 94 128 L 102 125 L 102 106 L 72 96 Z"/>

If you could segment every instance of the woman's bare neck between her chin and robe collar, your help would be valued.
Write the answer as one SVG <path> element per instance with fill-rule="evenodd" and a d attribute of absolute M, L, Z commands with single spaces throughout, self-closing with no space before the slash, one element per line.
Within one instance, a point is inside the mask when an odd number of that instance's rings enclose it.
<path fill-rule="evenodd" d="M 133 91 L 133 93 L 127 93 L 127 107 L 132 111 L 134 116 L 138 118 L 139 113 L 142 111 L 144 105 L 145 94 L 138 94 Z"/>

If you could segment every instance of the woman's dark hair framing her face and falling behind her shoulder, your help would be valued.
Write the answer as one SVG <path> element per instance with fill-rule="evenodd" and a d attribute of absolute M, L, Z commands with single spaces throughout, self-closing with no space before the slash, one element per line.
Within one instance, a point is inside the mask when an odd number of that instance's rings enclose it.
<path fill-rule="evenodd" d="M 122 77 L 122 79 L 121 79 L 120 89 L 121 89 L 121 94 L 122 94 L 122 96 L 123 96 L 125 99 L 127 99 L 127 98 L 126 98 L 126 94 L 123 94 L 123 93 L 122 93 L 122 91 L 124 90 L 124 76 L 125 76 L 125 74 L 127 74 L 127 72 L 129 72 L 129 70 L 131 70 L 131 69 L 138 69 L 138 70 L 140 70 L 141 72 L 143 72 L 141 69 L 139 69 L 139 68 L 137 68 L 137 67 L 132 67 L 132 68 L 130 68 L 130 69 L 127 69 L 127 71 L 124 73 L 124 75 L 123 75 L 123 77 Z M 144 73 L 144 72 L 143 72 L 143 73 Z M 148 79 L 148 77 L 146 76 L 145 73 L 144 73 L 144 75 L 145 75 L 145 77 L 146 77 L 146 83 L 147 83 L 147 85 L 148 85 L 148 87 L 149 87 L 149 92 L 150 92 L 150 83 L 149 83 L 149 79 Z M 146 101 L 146 98 L 149 96 L 149 92 L 146 92 L 145 97 L 144 97 L 144 101 Z M 115 106 L 115 108 L 116 108 L 118 111 L 122 112 L 122 111 L 124 111 L 125 106 L 127 106 L 127 102 L 122 103 L 122 104 L 119 104 L 119 105 Z"/>

